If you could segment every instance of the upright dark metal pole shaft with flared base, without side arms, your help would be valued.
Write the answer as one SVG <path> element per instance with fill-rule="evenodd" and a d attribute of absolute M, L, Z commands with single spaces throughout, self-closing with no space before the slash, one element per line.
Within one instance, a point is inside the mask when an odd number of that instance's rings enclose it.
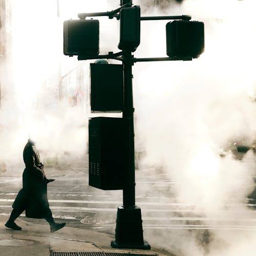
<path fill-rule="evenodd" d="M 132 1 L 121 1 L 128 6 Z M 123 62 L 123 118 L 129 119 L 129 160 L 124 174 L 123 206 L 117 209 L 115 240 L 111 242 L 114 248 L 150 249 L 151 246 L 143 240 L 141 209 L 135 205 L 135 151 L 134 151 L 134 108 L 133 108 L 133 56 L 130 49 L 124 49 Z"/>

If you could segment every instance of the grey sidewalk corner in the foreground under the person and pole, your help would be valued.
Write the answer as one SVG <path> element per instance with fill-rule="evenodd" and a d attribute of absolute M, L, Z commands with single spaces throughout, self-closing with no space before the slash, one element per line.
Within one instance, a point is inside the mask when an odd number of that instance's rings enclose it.
<path fill-rule="evenodd" d="M 151 250 L 115 249 L 110 245 L 114 239 L 110 234 L 67 226 L 51 233 L 48 225 L 32 224 L 19 218 L 16 223 L 22 227 L 22 230 L 12 230 L 5 227 L 7 220 L 7 217 L 0 216 L 0 254 L 5 256 L 49 256 L 51 252 L 174 255 L 155 247 L 152 247 Z"/>

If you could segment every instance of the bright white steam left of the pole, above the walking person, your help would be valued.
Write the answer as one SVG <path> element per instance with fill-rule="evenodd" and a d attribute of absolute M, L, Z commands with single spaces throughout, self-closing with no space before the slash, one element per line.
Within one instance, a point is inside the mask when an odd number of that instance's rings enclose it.
<path fill-rule="evenodd" d="M 5 97 L 0 110 L 0 161 L 7 165 L 23 163 L 29 136 L 36 139 L 43 158 L 65 152 L 80 156 L 87 151 L 84 106 L 71 107 L 66 97 L 58 101 L 59 75 L 78 65 L 62 53 L 63 20 L 77 18 L 84 9 L 95 11 L 95 3 L 59 1 L 59 12 L 57 1 L 12 3 L 12 46 L 8 46 L 12 59 L 1 79 Z"/>

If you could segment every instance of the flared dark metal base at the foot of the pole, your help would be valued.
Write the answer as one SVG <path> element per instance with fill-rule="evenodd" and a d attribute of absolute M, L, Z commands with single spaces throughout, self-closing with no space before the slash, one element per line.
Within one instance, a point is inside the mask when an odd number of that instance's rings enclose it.
<path fill-rule="evenodd" d="M 150 250 L 151 246 L 143 240 L 141 209 L 137 206 L 117 208 L 116 236 L 111 242 L 113 248 Z"/>

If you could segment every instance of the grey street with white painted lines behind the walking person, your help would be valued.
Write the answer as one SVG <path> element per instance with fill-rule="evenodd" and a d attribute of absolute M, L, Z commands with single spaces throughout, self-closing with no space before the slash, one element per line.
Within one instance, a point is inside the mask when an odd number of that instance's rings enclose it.
<path fill-rule="evenodd" d="M 48 185 L 50 208 L 57 221 L 66 221 L 67 226 L 91 229 L 115 234 L 117 207 L 122 205 L 122 191 L 104 191 L 88 185 L 88 170 L 74 168 L 61 170 L 46 168 L 48 178 L 56 179 Z M 22 178 L 0 176 L 0 215 L 8 217 L 17 191 L 22 187 Z M 250 217 L 238 210 L 230 217 L 228 211 L 208 218 L 195 209 L 194 205 L 177 202 L 172 191 L 175 181 L 157 169 L 136 170 L 136 204 L 141 208 L 144 239 L 157 246 L 166 246 L 161 236 L 168 237 L 179 230 L 198 230 L 206 236 L 212 229 L 219 230 L 256 230 L 255 198 L 250 196 L 246 208 L 252 209 Z M 220 214 L 220 212 L 218 212 Z M 223 218 L 223 216 L 227 216 Z M 21 219 L 27 222 L 46 224 L 45 220 Z M 158 234 L 158 238 L 154 237 Z M 205 233 L 206 232 L 206 233 Z M 160 236 L 160 238 L 159 238 Z M 162 243 L 162 244 L 161 244 Z"/>

